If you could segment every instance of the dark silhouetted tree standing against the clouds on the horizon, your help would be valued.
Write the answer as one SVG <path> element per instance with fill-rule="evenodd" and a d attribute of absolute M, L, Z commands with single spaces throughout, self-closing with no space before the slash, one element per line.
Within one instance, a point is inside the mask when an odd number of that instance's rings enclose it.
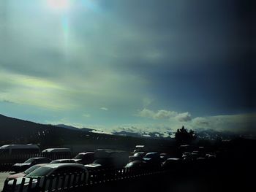
<path fill-rule="evenodd" d="M 187 128 L 178 128 L 175 133 L 175 139 L 178 145 L 189 144 L 196 139 L 195 132 L 193 130 L 187 130 Z"/>

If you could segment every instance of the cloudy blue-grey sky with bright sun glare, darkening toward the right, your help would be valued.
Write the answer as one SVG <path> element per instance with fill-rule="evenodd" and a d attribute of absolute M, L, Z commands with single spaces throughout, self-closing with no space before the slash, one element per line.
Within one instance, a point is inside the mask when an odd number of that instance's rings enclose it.
<path fill-rule="evenodd" d="M 255 4 L 0 1 L 0 113 L 108 133 L 255 133 Z"/>

